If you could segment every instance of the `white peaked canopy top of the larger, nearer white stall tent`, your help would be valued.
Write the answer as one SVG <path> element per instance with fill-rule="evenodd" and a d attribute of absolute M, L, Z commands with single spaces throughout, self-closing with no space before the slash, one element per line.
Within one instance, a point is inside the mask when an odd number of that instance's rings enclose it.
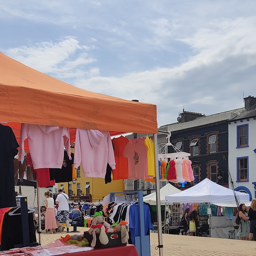
<path fill-rule="evenodd" d="M 231 202 L 236 207 L 236 194 L 240 203 L 248 204 L 250 196 L 248 194 L 233 191 L 229 188 L 225 188 L 217 183 L 212 182 L 209 179 L 204 179 L 195 186 L 183 190 L 180 193 L 165 196 L 166 203 L 211 203 L 220 206 L 231 206 Z"/>

